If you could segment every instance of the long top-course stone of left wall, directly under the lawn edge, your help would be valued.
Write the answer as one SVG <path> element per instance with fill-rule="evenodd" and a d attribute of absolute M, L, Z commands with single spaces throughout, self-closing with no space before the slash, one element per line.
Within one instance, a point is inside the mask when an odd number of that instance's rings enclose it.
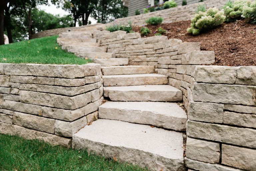
<path fill-rule="evenodd" d="M 6 75 L 33 75 L 71 79 L 84 76 L 82 65 L 4 64 L 4 71 Z"/>

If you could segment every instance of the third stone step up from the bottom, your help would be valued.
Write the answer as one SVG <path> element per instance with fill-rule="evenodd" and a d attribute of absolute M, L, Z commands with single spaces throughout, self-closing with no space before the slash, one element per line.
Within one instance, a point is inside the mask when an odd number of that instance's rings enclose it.
<path fill-rule="evenodd" d="M 182 92 L 170 85 L 104 87 L 104 96 L 112 101 L 182 101 Z"/>

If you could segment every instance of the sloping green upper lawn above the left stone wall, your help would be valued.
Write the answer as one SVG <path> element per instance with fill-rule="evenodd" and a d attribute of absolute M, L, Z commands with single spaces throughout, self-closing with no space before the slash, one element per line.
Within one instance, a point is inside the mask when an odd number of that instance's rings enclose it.
<path fill-rule="evenodd" d="M 0 46 L 0 63 L 86 64 L 90 60 L 78 58 L 61 49 L 58 36 L 49 36 Z"/>

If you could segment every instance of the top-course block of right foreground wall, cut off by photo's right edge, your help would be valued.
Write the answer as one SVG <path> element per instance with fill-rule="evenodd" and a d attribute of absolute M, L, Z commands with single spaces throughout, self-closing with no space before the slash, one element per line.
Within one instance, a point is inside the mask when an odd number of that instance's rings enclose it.
<path fill-rule="evenodd" d="M 235 84 L 256 85 L 256 67 L 239 67 Z"/>

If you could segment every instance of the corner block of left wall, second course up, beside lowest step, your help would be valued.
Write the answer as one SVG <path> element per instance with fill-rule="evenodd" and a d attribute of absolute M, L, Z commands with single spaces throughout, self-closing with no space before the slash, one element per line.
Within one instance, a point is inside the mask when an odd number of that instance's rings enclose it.
<path fill-rule="evenodd" d="M 55 134 L 64 137 L 72 137 L 72 135 L 84 127 L 86 123 L 87 119 L 85 116 L 73 122 L 55 120 Z"/>

